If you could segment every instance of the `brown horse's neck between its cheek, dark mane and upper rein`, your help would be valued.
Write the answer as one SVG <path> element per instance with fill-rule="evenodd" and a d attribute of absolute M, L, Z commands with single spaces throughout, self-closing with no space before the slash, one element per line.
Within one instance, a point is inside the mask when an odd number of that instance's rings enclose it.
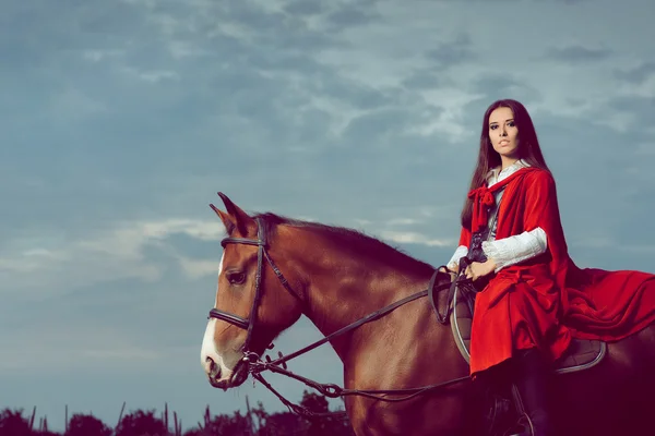
<path fill-rule="evenodd" d="M 308 271 L 305 315 L 325 336 L 426 289 L 430 279 L 430 268 L 401 256 L 401 261 L 394 264 L 393 261 L 370 256 L 360 258 L 348 247 L 312 245 L 322 250 L 302 250 L 299 259 Z M 357 330 L 354 336 L 361 339 L 362 329 Z M 352 346 L 352 335 L 344 335 L 332 341 L 342 359 L 344 350 Z"/>

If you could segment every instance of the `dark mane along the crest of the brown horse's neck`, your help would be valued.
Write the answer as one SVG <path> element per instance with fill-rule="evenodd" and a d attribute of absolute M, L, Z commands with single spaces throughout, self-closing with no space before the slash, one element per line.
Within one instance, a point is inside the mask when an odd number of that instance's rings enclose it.
<path fill-rule="evenodd" d="M 367 256 L 380 258 L 381 256 L 391 259 L 395 264 L 412 266 L 414 268 L 426 268 L 432 271 L 434 267 L 428 263 L 419 261 L 398 247 L 391 246 L 377 238 L 370 237 L 362 231 L 348 229 L 345 227 L 330 226 L 321 222 L 305 221 L 301 219 L 289 218 L 273 213 L 262 213 L 253 215 L 253 218 L 260 218 L 262 223 L 262 233 L 267 240 L 272 237 L 276 226 L 293 226 L 315 230 L 319 233 L 326 234 L 332 240 L 338 240 L 343 246 Z"/>

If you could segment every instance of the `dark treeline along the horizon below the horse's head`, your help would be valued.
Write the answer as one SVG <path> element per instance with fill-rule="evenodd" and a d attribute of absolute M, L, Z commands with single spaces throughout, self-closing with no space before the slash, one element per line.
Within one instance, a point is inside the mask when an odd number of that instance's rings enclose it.
<path fill-rule="evenodd" d="M 288 411 L 267 413 L 261 402 L 255 408 L 248 404 L 245 413 L 212 415 L 207 405 L 203 421 L 184 432 L 181 420 L 176 412 L 169 414 L 167 404 L 160 413 L 135 410 L 123 415 L 123 403 L 115 427 L 93 414 L 75 413 L 69 420 L 67 408 L 63 433 L 48 429 L 47 416 L 37 422 L 36 409 L 25 413 L 7 408 L 0 413 L 0 436 L 355 436 L 343 410 L 331 411 L 325 397 L 305 391 L 300 405 L 317 416 L 302 417 Z"/>

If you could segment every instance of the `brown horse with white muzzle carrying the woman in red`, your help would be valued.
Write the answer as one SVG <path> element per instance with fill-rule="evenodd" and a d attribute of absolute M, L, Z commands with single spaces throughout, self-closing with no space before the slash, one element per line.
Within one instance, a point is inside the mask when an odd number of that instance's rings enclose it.
<path fill-rule="evenodd" d="M 425 290 L 431 278 L 437 278 L 436 289 L 449 288 L 449 277 L 436 275 L 433 266 L 373 238 L 273 214 L 249 216 L 218 195 L 226 211 L 211 206 L 227 238 L 201 351 L 214 387 L 241 385 L 252 364 L 301 314 L 327 337 Z M 427 298 L 406 301 L 329 341 L 343 362 L 346 389 L 443 384 L 397 402 L 344 396 L 357 435 L 486 434 L 486 397 L 468 378 L 451 326 L 436 320 Z M 654 326 L 606 350 L 593 367 L 553 376 L 559 435 L 655 433 L 650 420 L 655 407 Z M 385 396 L 401 397 L 406 395 Z"/>

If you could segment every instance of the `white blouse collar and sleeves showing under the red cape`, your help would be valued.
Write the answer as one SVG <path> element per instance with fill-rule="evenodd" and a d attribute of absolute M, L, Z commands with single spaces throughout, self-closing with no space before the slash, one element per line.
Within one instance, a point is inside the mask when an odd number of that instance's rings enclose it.
<path fill-rule="evenodd" d="M 510 177 L 523 167 L 529 167 L 529 164 L 520 159 L 502 171 L 499 171 L 500 168 L 492 169 L 487 173 L 489 187 Z M 496 239 L 496 215 L 498 214 L 498 205 L 500 204 L 503 191 L 504 189 L 501 189 L 493 193 L 496 206 L 492 207 L 489 214 L 489 229 L 491 231 L 489 232 L 489 239 L 483 241 L 483 252 L 485 252 L 487 258 L 493 259 L 496 263 L 496 272 L 507 266 L 537 256 L 546 252 L 547 249 L 546 232 L 540 227 L 513 237 L 500 240 Z M 460 265 L 460 259 L 466 256 L 467 253 L 468 247 L 460 245 L 446 266 L 450 269 L 455 269 L 457 265 Z"/>

